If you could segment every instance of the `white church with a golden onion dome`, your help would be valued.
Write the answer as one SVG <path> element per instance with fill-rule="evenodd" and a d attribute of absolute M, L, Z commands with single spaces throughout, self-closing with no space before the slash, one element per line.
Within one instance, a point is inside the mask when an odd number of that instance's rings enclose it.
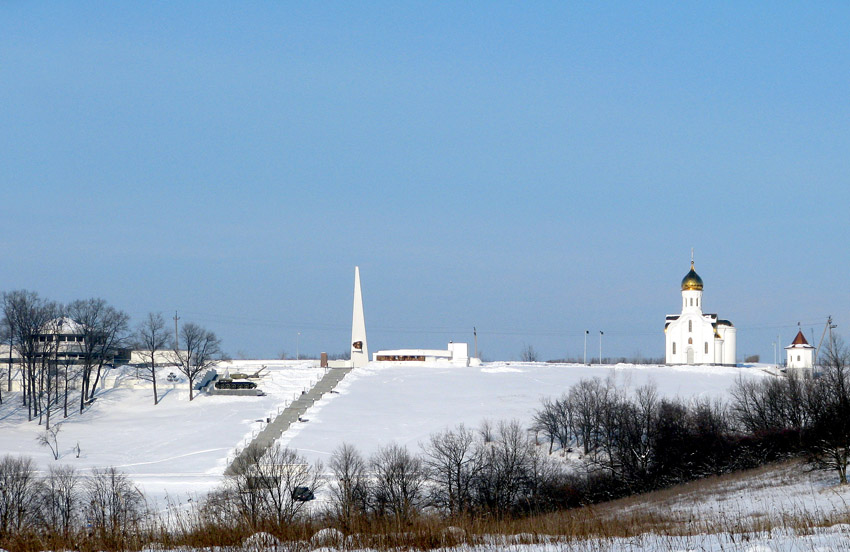
<path fill-rule="evenodd" d="M 667 364 L 735 366 L 737 329 L 716 314 L 702 312 L 702 278 L 691 270 L 682 279 L 682 313 L 668 314 L 664 324 Z"/>

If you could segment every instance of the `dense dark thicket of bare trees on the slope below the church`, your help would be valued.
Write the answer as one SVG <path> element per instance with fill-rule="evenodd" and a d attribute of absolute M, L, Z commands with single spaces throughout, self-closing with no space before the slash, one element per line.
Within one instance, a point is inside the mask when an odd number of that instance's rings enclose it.
<path fill-rule="evenodd" d="M 545 399 L 534 429 L 549 454 L 583 459 L 586 482 L 607 499 L 755 467 L 789 456 L 836 471 L 850 462 L 850 353 L 827 343 L 816 373 L 739 378 L 727 402 L 626 393 L 611 380 L 583 380 Z M 592 487 L 592 485 L 590 485 Z"/>

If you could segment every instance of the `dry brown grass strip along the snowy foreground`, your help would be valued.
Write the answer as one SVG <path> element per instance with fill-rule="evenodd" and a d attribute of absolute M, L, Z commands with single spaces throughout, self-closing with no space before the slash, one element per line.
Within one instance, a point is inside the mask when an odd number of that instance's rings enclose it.
<path fill-rule="evenodd" d="M 302 520 L 288 525 L 249 527 L 240 524 L 212 524 L 203 521 L 197 511 L 171 511 L 152 527 L 131 535 L 120 545 L 96 542 L 85 535 L 63 539 L 57 536 L 20 536 L 3 542 L 11 552 L 72 549 L 138 550 L 145 546 L 160 549 L 241 547 L 250 535 L 264 531 L 282 543 L 281 548 L 306 551 L 320 544 L 342 549 L 373 550 L 432 550 L 456 545 L 481 546 L 485 549 L 503 548 L 512 544 L 549 543 L 556 548 L 604 550 L 615 539 L 646 539 L 660 543 L 663 539 L 713 535 L 724 543 L 743 542 L 753 535 L 786 532 L 795 535 L 816 533 L 819 528 L 850 524 L 850 509 L 835 488 L 825 486 L 814 493 L 835 493 L 837 506 L 807 509 L 804 505 L 791 508 L 760 509 L 741 498 L 758 489 L 777 485 L 800 484 L 799 462 L 771 466 L 718 477 L 709 477 L 669 489 L 655 491 L 608 503 L 557 513 L 529 516 L 521 519 L 464 517 L 444 519 L 437 515 L 422 515 L 406 523 L 387 519 L 360 519 L 345 533 L 344 542 L 311 543 L 320 529 L 332 526 L 317 520 Z M 790 487 L 789 487 L 790 488 Z M 713 500 L 722 508 L 711 515 L 700 514 L 706 501 Z M 693 508 L 690 508 L 693 506 Z M 749 509 L 748 509 L 749 508 Z M 746 512 L 742 515 L 742 512 Z M 167 528 L 167 529 L 166 529 Z M 654 540 L 653 540 L 654 539 Z M 638 545 L 640 548 L 640 545 Z"/>

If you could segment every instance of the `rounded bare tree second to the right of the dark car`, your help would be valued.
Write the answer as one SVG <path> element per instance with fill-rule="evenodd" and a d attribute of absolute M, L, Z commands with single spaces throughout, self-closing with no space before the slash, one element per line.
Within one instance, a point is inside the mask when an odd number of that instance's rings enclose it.
<path fill-rule="evenodd" d="M 371 458 L 377 513 L 409 521 L 422 506 L 426 473 L 422 460 L 406 447 L 390 444 Z"/>

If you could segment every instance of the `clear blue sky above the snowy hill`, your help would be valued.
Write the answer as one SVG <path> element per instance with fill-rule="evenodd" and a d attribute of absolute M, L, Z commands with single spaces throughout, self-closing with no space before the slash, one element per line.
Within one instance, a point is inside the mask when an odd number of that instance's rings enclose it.
<path fill-rule="evenodd" d="M 233 356 L 850 329 L 844 2 L 0 3 L 0 289 Z M 300 338 L 297 337 L 301 333 Z M 297 344 L 296 344 L 297 341 Z"/>

